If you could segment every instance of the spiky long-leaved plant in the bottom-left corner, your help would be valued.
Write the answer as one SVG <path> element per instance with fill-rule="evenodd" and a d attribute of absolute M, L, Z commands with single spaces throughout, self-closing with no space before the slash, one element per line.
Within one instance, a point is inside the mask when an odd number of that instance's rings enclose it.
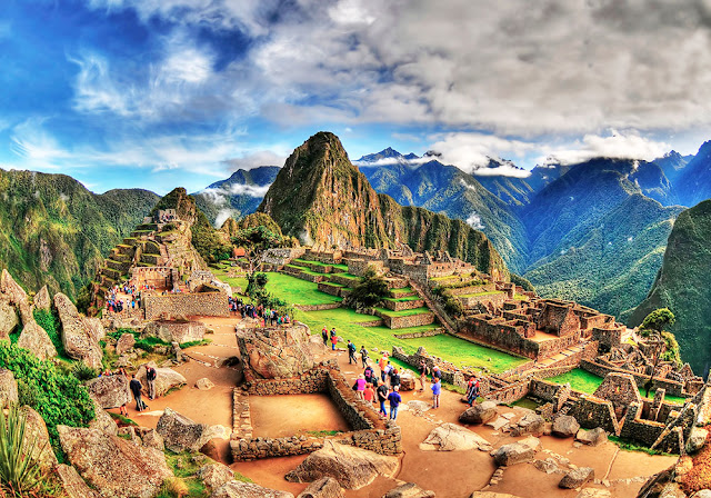
<path fill-rule="evenodd" d="M 27 418 L 12 404 L 8 415 L 0 410 L 0 484 L 11 494 L 27 496 L 38 487 L 40 466 L 32 457 L 37 440 L 26 438 Z"/>

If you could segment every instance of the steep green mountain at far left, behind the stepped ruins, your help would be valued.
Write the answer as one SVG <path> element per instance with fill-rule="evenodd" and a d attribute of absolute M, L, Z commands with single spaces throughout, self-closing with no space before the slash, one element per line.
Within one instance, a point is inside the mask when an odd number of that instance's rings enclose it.
<path fill-rule="evenodd" d="M 150 211 L 148 190 L 94 195 L 64 175 L 0 170 L 0 261 L 28 290 L 76 297 Z"/>

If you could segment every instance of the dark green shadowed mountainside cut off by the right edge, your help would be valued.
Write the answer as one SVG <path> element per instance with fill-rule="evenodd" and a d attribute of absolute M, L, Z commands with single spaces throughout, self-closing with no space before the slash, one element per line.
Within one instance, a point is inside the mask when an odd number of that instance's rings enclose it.
<path fill-rule="evenodd" d="M 647 299 L 632 312 L 628 325 L 638 326 L 657 308 L 677 317 L 671 328 L 681 356 L 697 374 L 711 365 L 711 200 L 683 211 L 669 236 L 661 269 Z"/>

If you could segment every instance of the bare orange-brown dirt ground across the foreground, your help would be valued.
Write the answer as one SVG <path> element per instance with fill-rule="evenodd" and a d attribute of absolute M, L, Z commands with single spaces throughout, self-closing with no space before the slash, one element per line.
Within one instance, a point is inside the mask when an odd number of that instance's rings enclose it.
<path fill-rule="evenodd" d="M 236 319 L 203 318 L 201 320 L 208 328 L 214 330 L 214 335 L 207 336 L 213 342 L 187 350 L 192 359 L 176 368 L 188 379 L 188 385 L 164 398 L 149 401 L 150 411 L 148 412 L 139 414 L 134 407 L 130 407 L 129 417 L 138 424 L 154 427 L 163 409 L 170 407 L 198 422 L 231 427 L 232 388 L 236 386 L 238 372 L 229 368 L 218 369 L 213 365 L 218 358 L 239 355 L 233 331 Z M 356 376 L 362 372 L 360 367 L 354 368 L 348 365 L 346 351 L 324 350 L 318 359 L 333 357 L 338 359 L 341 370 L 350 380 L 354 380 Z M 208 377 L 216 387 L 208 391 L 194 388 L 196 380 L 202 377 Z M 431 401 L 431 397 L 427 396 L 430 392 L 429 386 L 427 388 L 425 392 L 402 392 L 403 405 L 414 399 Z M 347 491 L 346 496 L 348 498 L 382 497 L 398 485 L 397 481 L 414 481 L 422 488 L 434 491 L 438 497 L 445 498 L 469 497 L 472 491 L 487 487 L 495 470 L 493 459 L 488 452 L 424 451 L 419 447 L 429 432 L 440 424 L 458 424 L 459 415 L 464 408 L 461 395 L 444 390 L 441 406 L 437 410 L 425 412 L 401 410 L 398 415 L 398 424 L 402 428 L 404 451 L 399 474 L 395 476 L 397 480 L 380 478 L 365 488 Z M 512 420 L 521 417 L 524 411 L 518 407 L 499 407 L 499 412 L 511 417 Z M 271 437 L 306 430 L 347 429 L 346 422 L 333 409 L 331 401 L 321 395 L 253 398 L 252 422 L 257 436 Z M 472 426 L 469 429 L 484 437 L 494 448 L 515 440 L 507 434 L 483 426 Z M 635 497 L 647 477 L 668 468 L 677 460 L 675 457 L 652 457 L 643 452 L 623 451 L 612 442 L 592 448 L 574 444 L 572 438 L 558 439 L 543 436 L 540 440 L 542 450 L 537 454 L 537 458 L 545 459 L 554 452 L 568 458 L 578 467 L 592 467 L 595 479 L 600 484 L 589 486 L 608 487 L 615 498 Z M 227 458 L 228 442 L 226 441 L 220 449 Z M 231 468 L 261 486 L 290 491 L 296 496 L 307 485 L 288 482 L 283 476 L 304 458 L 306 456 L 300 456 L 237 462 L 232 464 Z M 487 490 L 509 492 L 522 498 L 575 497 L 577 490 L 558 488 L 561 477 L 557 474 L 547 475 L 531 464 L 520 464 L 509 467 L 503 478 Z"/>

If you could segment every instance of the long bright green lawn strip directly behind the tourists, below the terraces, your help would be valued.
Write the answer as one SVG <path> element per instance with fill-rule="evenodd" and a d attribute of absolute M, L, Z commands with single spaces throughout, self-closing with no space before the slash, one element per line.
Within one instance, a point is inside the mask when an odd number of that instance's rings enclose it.
<path fill-rule="evenodd" d="M 375 347 L 390 352 L 393 346 L 400 346 L 405 352 L 413 353 L 420 346 L 423 346 L 428 353 L 439 356 L 460 367 L 463 365 L 485 367 L 492 372 L 502 372 L 528 361 L 524 358 L 517 358 L 444 333 L 420 339 L 398 339 L 393 336 L 393 333 L 433 330 L 439 328 L 435 325 L 398 330 L 390 330 L 387 327 L 361 327 L 356 325 L 357 321 L 364 322 L 373 318 L 343 308 L 324 311 L 299 311 L 297 313 L 297 319 L 307 323 L 312 333 L 321 333 L 323 326 L 329 330 L 331 327 L 336 327 L 339 336 L 344 340 L 353 341 L 359 348 L 364 345 L 368 349 Z M 339 346 L 346 347 L 346 345 Z"/>

